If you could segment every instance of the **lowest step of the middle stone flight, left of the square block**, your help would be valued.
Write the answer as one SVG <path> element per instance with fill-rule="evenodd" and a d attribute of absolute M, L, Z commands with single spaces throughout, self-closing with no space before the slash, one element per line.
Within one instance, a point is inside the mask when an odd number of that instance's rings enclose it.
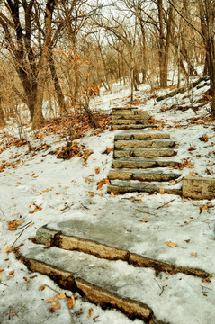
<path fill-rule="evenodd" d="M 182 195 L 182 184 L 169 184 L 167 182 L 139 182 L 135 180 L 112 180 L 108 185 L 108 193 L 159 193 L 164 189 L 164 193 Z"/>

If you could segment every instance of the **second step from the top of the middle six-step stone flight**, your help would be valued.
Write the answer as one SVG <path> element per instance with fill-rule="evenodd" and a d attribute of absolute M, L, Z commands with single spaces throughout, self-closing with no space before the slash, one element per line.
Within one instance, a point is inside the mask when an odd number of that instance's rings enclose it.
<path fill-rule="evenodd" d="M 171 148 L 173 140 L 115 140 L 114 148 Z"/>

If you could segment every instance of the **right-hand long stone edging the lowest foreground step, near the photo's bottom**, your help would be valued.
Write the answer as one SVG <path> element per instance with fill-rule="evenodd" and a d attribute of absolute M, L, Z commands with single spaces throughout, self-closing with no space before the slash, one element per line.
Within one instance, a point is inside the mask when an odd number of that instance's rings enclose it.
<path fill-rule="evenodd" d="M 106 289 L 90 284 L 81 278 L 76 278 L 76 287 L 79 293 L 84 294 L 90 302 L 102 307 L 110 307 L 111 305 L 132 319 L 150 320 L 153 316 L 153 311 L 148 305 L 133 301 L 130 298 L 121 298 L 118 294 L 108 292 Z"/>

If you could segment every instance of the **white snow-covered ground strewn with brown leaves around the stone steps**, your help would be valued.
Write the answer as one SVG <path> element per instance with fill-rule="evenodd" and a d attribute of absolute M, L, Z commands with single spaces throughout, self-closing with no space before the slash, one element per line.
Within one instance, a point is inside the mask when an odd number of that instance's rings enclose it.
<path fill-rule="evenodd" d="M 180 170 L 182 175 L 214 177 L 215 124 L 207 118 L 210 103 L 195 110 L 195 107 L 200 104 L 196 102 L 207 89 L 208 86 L 194 88 L 189 95 L 187 92 L 177 94 L 159 103 L 154 96 L 164 95 L 169 90 L 150 93 L 148 86 L 141 85 L 135 94 L 135 99 L 142 102 L 138 106 L 139 109 L 148 110 L 157 121 L 158 130 L 170 132 L 178 145 L 178 155 L 175 158 L 184 163 L 184 168 Z M 114 106 L 129 104 L 129 87 L 115 85 L 113 90 L 115 92 L 112 94 L 103 93 L 92 100 L 94 111 L 111 112 Z M 173 105 L 175 105 L 173 109 L 166 110 Z M 186 106 L 191 108 L 184 112 L 177 110 L 177 107 Z M 141 323 L 140 320 L 131 321 L 120 311 L 102 310 L 77 294 L 76 304 L 71 311 L 72 317 L 65 299 L 60 302 L 60 309 L 51 313 L 50 303 L 43 301 L 60 293 L 60 288 L 48 277 L 32 274 L 26 266 L 16 260 L 14 253 L 10 252 L 12 246 L 24 244 L 28 247 L 31 244 L 29 238 L 35 236 L 36 229 L 51 220 L 73 218 L 82 211 L 86 212 L 86 208 L 89 216 L 96 217 L 96 212 L 105 202 L 112 200 L 117 204 L 121 201 L 120 196 L 112 197 L 106 194 L 106 184 L 101 189 L 97 189 L 97 183 L 107 178 L 112 165 L 112 152 L 109 154 L 103 152 L 106 148 L 112 148 L 114 134 L 118 131 L 105 130 L 97 135 L 89 132 L 84 138 L 76 140 L 84 144 L 85 148 L 93 150 L 86 163 L 80 157 L 62 160 L 56 155 L 49 154 L 49 151 L 65 145 L 65 140 L 60 139 L 58 135 L 42 133 L 40 139 L 33 139 L 32 146 L 39 147 L 45 144 L 50 146 L 36 152 L 28 153 L 26 145 L 10 146 L 12 138 L 8 137 L 7 133 L 15 133 L 15 131 L 15 126 L 14 128 L 10 126 L 10 129 L 2 130 L 0 135 L 0 170 L 2 170 L 0 173 L 0 323 Z M 6 144 L 8 148 L 1 151 Z M 132 193 L 124 195 L 123 198 L 130 198 L 130 196 L 134 196 L 138 201 L 141 199 L 140 209 L 147 206 L 150 211 L 151 207 L 151 216 L 148 212 L 146 216 L 148 222 L 143 224 L 148 230 L 150 221 L 153 222 L 153 212 L 157 207 L 175 199 L 167 205 L 167 208 L 157 210 L 159 216 L 157 232 L 159 229 L 161 232 L 165 228 L 168 230 L 165 231 L 164 236 L 159 236 L 158 232 L 155 241 L 153 241 L 153 231 L 151 232 L 150 240 L 153 247 L 160 252 L 160 255 L 163 253 L 164 258 L 167 256 L 175 260 L 175 255 L 178 253 L 181 264 L 188 262 L 190 266 L 201 267 L 212 275 L 215 274 L 213 249 L 215 200 L 192 201 L 159 193 L 153 195 Z M 127 201 L 129 202 L 132 203 L 131 200 Z M 145 218 L 145 214 L 139 213 L 139 218 Z M 177 231 L 175 225 L 182 230 Z M 11 230 L 13 227 L 16 229 Z M 167 247 L 166 241 L 175 242 L 178 246 Z M 149 247 L 153 251 L 153 247 L 148 243 Z M 198 284 L 193 284 L 193 290 L 192 286 L 186 290 L 186 293 L 189 292 L 186 295 L 191 313 L 189 321 L 184 316 L 184 305 L 180 304 L 180 295 L 178 295 L 180 318 L 171 315 L 172 317 L 168 318 L 171 324 L 214 323 L 215 279 L 211 277 L 209 282 L 204 283 L 201 279 L 198 280 Z M 43 284 L 48 286 L 44 290 L 39 290 Z M 172 285 L 171 289 L 171 293 L 166 293 L 166 305 L 168 305 L 166 310 L 169 310 L 173 296 L 177 295 L 178 286 Z M 71 295 L 67 292 L 67 295 L 69 294 Z M 159 298 L 157 293 L 153 297 L 153 304 L 156 305 Z M 89 311 L 90 309 L 93 311 Z"/>

